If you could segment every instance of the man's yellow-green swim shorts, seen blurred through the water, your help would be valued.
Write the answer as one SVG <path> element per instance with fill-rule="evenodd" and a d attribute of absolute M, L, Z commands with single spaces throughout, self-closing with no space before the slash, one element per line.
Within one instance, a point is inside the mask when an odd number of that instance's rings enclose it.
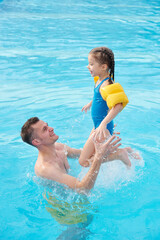
<path fill-rule="evenodd" d="M 50 192 L 43 194 L 46 210 L 60 224 L 88 226 L 93 219 L 94 207 L 85 195 L 75 195 L 68 202 Z"/>

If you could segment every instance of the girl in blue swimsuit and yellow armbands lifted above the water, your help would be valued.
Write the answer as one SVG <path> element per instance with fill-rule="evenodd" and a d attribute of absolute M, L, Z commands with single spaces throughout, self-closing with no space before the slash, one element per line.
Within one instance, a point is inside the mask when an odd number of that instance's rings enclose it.
<path fill-rule="evenodd" d="M 93 100 L 82 108 L 87 112 L 91 106 L 91 115 L 94 123 L 89 139 L 87 140 L 79 158 L 82 166 L 89 166 L 95 153 L 93 132 L 96 141 L 104 141 L 113 134 L 113 119 L 126 106 L 128 98 L 119 83 L 114 83 L 114 54 L 106 47 L 94 48 L 88 56 L 88 66 L 91 76 L 95 80 Z M 123 148 L 110 154 L 107 160 L 119 159 L 127 166 L 131 166 L 128 152 L 131 148 Z M 88 159 L 86 162 L 84 159 Z"/>

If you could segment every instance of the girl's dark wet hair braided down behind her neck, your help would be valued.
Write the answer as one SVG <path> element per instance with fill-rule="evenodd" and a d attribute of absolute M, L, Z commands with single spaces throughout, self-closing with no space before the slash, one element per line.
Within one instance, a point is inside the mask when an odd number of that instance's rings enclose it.
<path fill-rule="evenodd" d="M 100 64 L 107 64 L 108 72 L 109 72 L 109 83 L 112 84 L 114 82 L 114 53 L 111 49 L 107 47 L 97 47 L 93 48 L 89 54 L 92 54 L 93 57 Z"/>

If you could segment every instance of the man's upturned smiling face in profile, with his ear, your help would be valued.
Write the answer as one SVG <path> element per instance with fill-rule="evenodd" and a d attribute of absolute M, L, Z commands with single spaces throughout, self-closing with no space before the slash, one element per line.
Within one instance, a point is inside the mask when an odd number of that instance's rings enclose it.
<path fill-rule="evenodd" d="M 54 129 L 42 120 L 39 120 L 32 127 L 34 128 L 34 138 L 38 141 L 38 145 L 50 145 L 55 143 L 59 138 L 54 133 Z"/>

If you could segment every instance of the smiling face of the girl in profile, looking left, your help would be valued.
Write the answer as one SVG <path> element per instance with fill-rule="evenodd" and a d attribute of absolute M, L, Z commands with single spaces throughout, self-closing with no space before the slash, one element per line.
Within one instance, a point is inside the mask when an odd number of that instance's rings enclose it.
<path fill-rule="evenodd" d="M 104 69 L 104 64 L 97 62 L 92 54 L 88 55 L 87 68 L 90 71 L 92 77 L 100 76 L 104 70 L 106 71 L 106 69 Z"/>

